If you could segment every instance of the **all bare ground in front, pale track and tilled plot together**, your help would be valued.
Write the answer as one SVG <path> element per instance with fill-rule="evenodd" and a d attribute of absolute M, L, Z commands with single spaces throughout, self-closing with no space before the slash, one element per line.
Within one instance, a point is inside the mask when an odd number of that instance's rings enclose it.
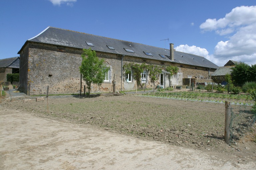
<path fill-rule="evenodd" d="M 223 104 L 125 95 L 49 97 L 47 107 L 46 98 L 23 103 L 25 98 L 29 97 L 0 103 L 1 169 L 254 169 L 256 165 L 256 144 L 246 126 L 251 115 L 238 115 L 239 130 L 227 145 Z"/>

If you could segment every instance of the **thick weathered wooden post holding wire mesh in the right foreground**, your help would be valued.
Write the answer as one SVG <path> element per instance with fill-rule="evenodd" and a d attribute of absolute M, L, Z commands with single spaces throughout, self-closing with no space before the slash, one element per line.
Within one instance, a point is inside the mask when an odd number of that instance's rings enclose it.
<path fill-rule="evenodd" d="M 225 101 L 225 142 L 230 143 L 230 119 L 231 119 L 231 104 L 230 102 Z"/>

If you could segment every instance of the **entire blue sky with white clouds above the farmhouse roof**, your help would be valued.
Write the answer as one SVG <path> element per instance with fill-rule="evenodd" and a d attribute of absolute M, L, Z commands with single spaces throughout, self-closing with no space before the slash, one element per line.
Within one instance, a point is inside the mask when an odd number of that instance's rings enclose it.
<path fill-rule="evenodd" d="M 254 0 L 1 0 L 0 59 L 48 26 L 256 64 Z M 161 41 L 169 39 L 166 41 Z"/>

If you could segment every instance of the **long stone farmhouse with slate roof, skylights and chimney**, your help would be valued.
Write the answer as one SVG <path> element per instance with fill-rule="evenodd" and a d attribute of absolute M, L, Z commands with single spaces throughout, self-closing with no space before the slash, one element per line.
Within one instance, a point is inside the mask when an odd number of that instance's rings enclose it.
<path fill-rule="evenodd" d="M 83 48 L 95 50 L 97 56 L 105 60 L 109 69 L 104 83 L 100 87 L 92 85 L 91 92 L 135 90 L 136 82 L 132 74 L 126 74 L 122 69 L 123 65 L 129 62 L 177 66 L 178 73 L 172 77 L 169 72 L 162 71 L 157 83 L 160 88 L 183 85 L 183 80 L 188 77 L 209 79 L 218 68 L 204 57 L 176 51 L 172 43 L 170 49 L 164 49 L 47 27 L 37 36 L 27 40 L 18 52 L 20 90 L 28 95 L 38 95 L 45 94 L 46 87 L 49 86 L 50 94 L 78 93 Z M 144 71 L 141 81 L 145 83 L 149 80 L 147 77 L 148 74 Z M 82 81 L 82 86 L 84 85 L 86 84 Z M 152 88 L 150 81 L 146 82 L 146 87 Z"/>

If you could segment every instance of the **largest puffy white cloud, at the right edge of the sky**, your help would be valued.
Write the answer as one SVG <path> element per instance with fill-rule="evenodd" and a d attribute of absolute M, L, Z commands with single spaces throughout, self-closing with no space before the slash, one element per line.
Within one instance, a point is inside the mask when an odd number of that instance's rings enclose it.
<path fill-rule="evenodd" d="M 215 31 L 220 36 L 229 35 L 228 41 L 218 42 L 214 54 L 207 57 L 219 66 L 224 65 L 228 60 L 242 61 L 249 65 L 256 64 L 255 28 L 256 6 L 236 7 L 224 18 L 207 19 L 200 25 L 202 31 Z"/>

